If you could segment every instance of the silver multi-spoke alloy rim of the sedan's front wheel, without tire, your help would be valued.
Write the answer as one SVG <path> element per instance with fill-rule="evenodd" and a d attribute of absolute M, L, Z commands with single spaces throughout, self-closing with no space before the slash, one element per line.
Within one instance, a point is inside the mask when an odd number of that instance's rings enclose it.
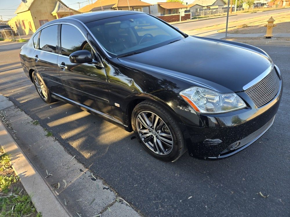
<path fill-rule="evenodd" d="M 168 126 L 155 113 L 143 111 L 136 119 L 137 131 L 144 144 L 158 155 L 168 155 L 173 149 L 173 137 Z"/>

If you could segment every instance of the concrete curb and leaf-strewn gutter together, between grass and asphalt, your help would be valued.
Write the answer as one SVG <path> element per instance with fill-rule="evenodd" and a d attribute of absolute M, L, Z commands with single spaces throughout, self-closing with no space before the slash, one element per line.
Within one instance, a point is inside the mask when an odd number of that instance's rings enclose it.
<path fill-rule="evenodd" d="M 9 121 L 6 127 L 0 123 L 1 146 L 12 154 L 21 183 L 44 217 L 140 216 L 102 179 L 69 155 L 37 120 L 2 95 L 0 110 L 6 112 Z"/>

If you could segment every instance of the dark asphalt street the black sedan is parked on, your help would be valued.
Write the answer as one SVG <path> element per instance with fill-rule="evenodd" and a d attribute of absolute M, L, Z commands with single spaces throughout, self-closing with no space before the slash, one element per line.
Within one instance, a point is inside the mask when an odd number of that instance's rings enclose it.
<path fill-rule="evenodd" d="M 284 93 L 273 126 L 258 141 L 220 161 L 185 153 L 165 163 L 148 155 L 133 133 L 63 102 L 45 104 L 17 68 L 20 46 L 0 45 L 0 93 L 145 216 L 290 216 L 290 47 L 260 46 L 280 67 Z"/>

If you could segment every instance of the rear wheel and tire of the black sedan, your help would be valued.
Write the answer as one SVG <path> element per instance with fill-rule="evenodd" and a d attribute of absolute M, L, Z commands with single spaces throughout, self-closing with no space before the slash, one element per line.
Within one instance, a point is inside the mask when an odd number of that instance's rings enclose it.
<path fill-rule="evenodd" d="M 37 93 L 44 102 L 51 103 L 56 101 L 54 98 L 51 97 L 51 93 L 48 87 L 46 86 L 44 80 L 41 78 L 38 72 L 32 72 L 32 81 L 34 83 Z"/>

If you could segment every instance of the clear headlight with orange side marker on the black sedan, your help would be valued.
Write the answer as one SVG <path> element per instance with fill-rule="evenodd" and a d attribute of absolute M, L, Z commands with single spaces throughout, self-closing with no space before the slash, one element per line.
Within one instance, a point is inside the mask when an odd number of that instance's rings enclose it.
<path fill-rule="evenodd" d="M 179 93 L 198 113 L 224 113 L 246 107 L 235 93 L 218 93 L 202 87 L 191 87 Z"/>

